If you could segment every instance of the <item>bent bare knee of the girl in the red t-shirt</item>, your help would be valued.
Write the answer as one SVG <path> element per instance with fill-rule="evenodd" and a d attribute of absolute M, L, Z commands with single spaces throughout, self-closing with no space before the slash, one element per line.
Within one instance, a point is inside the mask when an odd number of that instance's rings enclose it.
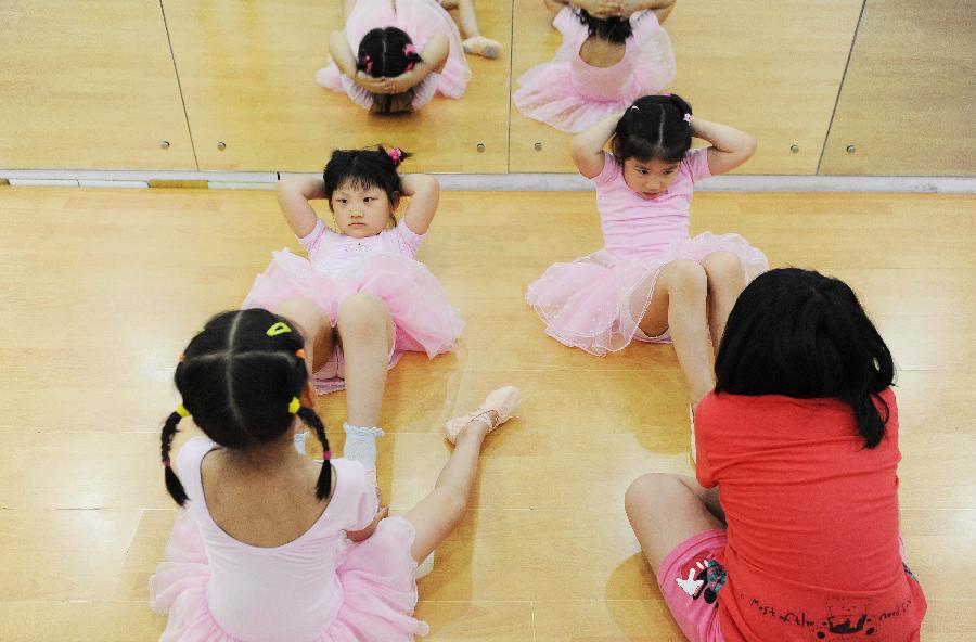
<path fill-rule="evenodd" d="M 655 572 L 688 538 L 725 527 L 718 491 L 706 490 L 683 475 L 650 473 L 638 477 L 627 489 L 624 505 L 644 557 Z"/>

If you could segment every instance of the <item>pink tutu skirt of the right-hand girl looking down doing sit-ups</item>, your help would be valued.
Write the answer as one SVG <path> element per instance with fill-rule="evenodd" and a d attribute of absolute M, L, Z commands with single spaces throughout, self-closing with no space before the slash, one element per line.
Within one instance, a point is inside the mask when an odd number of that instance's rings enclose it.
<path fill-rule="evenodd" d="M 715 252 L 737 256 L 746 282 L 769 270 L 766 255 L 739 234 L 704 232 L 673 241 L 647 258 L 600 249 L 573 262 L 553 264 L 528 286 L 526 301 L 545 322 L 545 334 L 602 357 L 627 347 L 635 337 L 643 338 L 638 324 L 651 305 L 664 266 L 679 259 L 701 262 Z"/>

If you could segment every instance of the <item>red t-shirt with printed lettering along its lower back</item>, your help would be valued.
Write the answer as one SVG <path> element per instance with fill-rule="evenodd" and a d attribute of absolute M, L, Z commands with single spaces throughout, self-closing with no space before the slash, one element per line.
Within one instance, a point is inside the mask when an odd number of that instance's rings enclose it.
<path fill-rule="evenodd" d="M 698 483 L 719 486 L 729 542 L 725 640 L 919 640 L 926 603 L 902 565 L 898 410 L 864 447 L 836 399 L 709 394 L 695 411 Z M 884 416 L 884 414 L 882 415 Z"/>

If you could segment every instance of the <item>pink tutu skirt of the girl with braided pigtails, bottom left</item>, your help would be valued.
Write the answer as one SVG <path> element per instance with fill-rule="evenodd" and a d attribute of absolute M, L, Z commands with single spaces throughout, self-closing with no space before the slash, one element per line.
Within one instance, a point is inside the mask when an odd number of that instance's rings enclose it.
<path fill-rule="evenodd" d="M 426 622 L 413 617 L 418 599 L 413 579 L 416 562 L 410 556 L 413 538 L 409 522 L 387 517 L 369 539 L 348 542 L 345 557 L 336 567 L 345 599 L 335 619 L 314 642 L 406 642 L 429 632 Z M 180 511 L 166 545 L 166 560 L 150 578 L 150 606 L 169 615 L 159 642 L 241 642 L 228 635 L 210 615 L 209 579 L 196 518 L 190 511 Z M 287 614 L 274 617 L 286 621 Z"/>

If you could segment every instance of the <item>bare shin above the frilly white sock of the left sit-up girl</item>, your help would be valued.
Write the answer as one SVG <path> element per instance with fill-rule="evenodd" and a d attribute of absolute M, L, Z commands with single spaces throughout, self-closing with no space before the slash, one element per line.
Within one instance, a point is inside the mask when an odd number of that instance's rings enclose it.
<path fill-rule="evenodd" d="M 396 336 L 389 309 L 372 294 L 354 294 L 339 304 L 337 328 L 346 364 L 347 421 L 375 426 Z"/>

